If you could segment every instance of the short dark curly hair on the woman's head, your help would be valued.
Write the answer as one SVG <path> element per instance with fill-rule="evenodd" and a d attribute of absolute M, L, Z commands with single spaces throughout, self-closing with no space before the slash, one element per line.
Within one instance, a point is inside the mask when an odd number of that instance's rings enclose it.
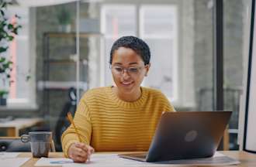
<path fill-rule="evenodd" d="M 109 60 L 110 64 L 112 64 L 112 56 L 115 50 L 119 49 L 119 47 L 133 49 L 134 52 L 140 55 L 145 65 L 150 63 L 150 48 L 147 46 L 147 43 L 135 36 L 123 36 L 117 39 L 116 42 L 112 45 Z"/>

